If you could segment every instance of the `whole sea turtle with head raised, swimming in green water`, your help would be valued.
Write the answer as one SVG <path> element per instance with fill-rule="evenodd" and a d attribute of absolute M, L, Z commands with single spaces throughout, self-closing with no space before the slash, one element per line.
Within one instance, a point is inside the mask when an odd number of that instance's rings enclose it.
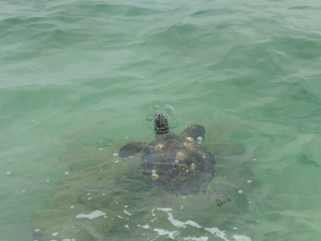
<path fill-rule="evenodd" d="M 169 131 L 167 117 L 157 113 L 154 117 L 154 130 L 156 136 L 152 143 L 131 141 L 119 150 L 119 156 L 126 159 L 143 150 L 145 178 L 155 187 L 172 193 L 164 200 L 162 207 L 171 205 L 178 194 L 201 191 L 217 206 L 230 202 L 225 192 L 213 192 L 208 187 L 216 175 L 216 165 L 215 156 L 199 145 L 204 140 L 203 126 L 189 125 L 177 135 Z"/>

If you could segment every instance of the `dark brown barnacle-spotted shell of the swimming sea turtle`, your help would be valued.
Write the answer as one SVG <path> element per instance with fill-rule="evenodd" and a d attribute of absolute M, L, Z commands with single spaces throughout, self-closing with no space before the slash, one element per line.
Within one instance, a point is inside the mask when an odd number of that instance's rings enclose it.
<path fill-rule="evenodd" d="M 143 175 L 165 192 L 198 193 L 215 177 L 215 157 L 193 139 L 172 132 L 156 135 L 142 159 Z"/>

